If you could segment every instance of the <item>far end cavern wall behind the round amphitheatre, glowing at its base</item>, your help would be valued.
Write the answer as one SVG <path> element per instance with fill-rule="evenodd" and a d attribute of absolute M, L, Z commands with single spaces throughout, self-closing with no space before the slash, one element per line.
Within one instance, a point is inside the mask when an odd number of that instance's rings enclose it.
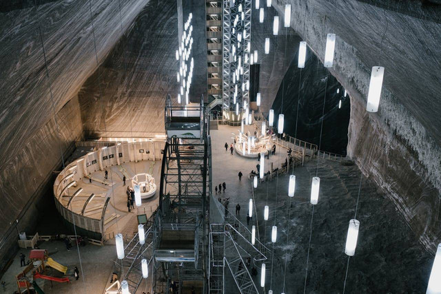
<path fill-rule="evenodd" d="M 190 12 L 193 14 L 195 70 L 189 98 L 194 102 L 199 102 L 201 94 L 206 97 L 207 92 L 204 5 L 203 1 L 183 1 L 184 22 Z M 164 134 L 165 97 L 170 94 L 176 104 L 179 90 L 177 48 L 176 0 L 151 0 L 133 28 L 81 87 L 79 101 L 85 136 L 130 138 Z"/>

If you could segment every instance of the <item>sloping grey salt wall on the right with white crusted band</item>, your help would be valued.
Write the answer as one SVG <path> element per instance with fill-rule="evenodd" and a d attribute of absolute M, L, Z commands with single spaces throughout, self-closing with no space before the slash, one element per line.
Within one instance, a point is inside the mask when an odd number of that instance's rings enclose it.
<path fill-rule="evenodd" d="M 331 74 L 351 99 L 348 156 L 396 204 L 417 238 L 440 242 L 440 6 L 420 1 L 273 2 L 322 60 L 335 33 Z M 432 1 L 433 2 L 433 1 Z M 380 109 L 366 112 L 371 67 L 385 67 Z"/>

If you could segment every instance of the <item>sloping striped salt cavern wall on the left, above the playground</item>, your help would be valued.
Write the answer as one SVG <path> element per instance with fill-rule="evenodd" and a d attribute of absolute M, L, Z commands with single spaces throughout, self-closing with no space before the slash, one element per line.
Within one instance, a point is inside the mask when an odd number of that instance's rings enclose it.
<path fill-rule="evenodd" d="M 16 246 L 14 223 L 32 232 L 40 200 L 52 199 L 46 188 L 61 153 L 82 137 L 76 92 L 97 67 L 94 45 L 101 62 L 121 37 L 120 19 L 127 30 L 148 1 L 121 1 L 121 14 L 119 2 L 1 2 L 0 268 Z"/>

